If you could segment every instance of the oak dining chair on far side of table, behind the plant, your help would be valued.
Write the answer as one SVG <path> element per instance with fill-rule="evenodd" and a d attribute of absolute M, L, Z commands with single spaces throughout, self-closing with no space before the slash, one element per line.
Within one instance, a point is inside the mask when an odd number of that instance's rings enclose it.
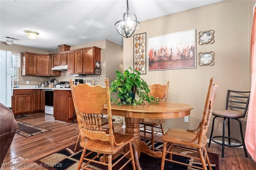
<path fill-rule="evenodd" d="M 154 84 L 148 85 L 148 88 L 150 89 L 150 93 L 148 94 L 149 96 L 152 95 L 154 98 L 158 97 L 160 101 L 167 101 L 169 81 L 167 81 L 166 85 Z M 155 140 L 161 137 L 158 136 L 155 138 L 156 134 L 160 132 L 164 134 L 163 123 L 165 123 L 164 119 L 141 119 L 140 121 L 140 125 L 142 125 L 140 128 L 143 128 L 143 130 L 140 130 L 140 132 L 143 132 L 144 134 L 140 135 L 140 138 L 151 140 L 153 151 L 155 149 Z M 146 127 L 150 127 L 150 129 L 147 129 Z M 147 133 L 151 134 L 151 137 L 146 136 Z"/>

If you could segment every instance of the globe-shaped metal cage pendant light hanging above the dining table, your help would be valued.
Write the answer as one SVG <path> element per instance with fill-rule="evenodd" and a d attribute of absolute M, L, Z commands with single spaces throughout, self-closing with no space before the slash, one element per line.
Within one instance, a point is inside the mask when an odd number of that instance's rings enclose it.
<path fill-rule="evenodd" d="M 129 38 L 138 32 L 140 28 L 140 22 L 134 13 L 129 12 L 128 0 L 127 0 L 127 12 L 121 14 L 116 19 L 116 31 L 124 38 Z"/>

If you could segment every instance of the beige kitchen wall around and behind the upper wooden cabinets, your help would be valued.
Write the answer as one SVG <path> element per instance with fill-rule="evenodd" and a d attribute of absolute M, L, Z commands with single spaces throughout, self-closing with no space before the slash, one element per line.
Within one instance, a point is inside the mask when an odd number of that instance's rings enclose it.
<path fill-rule="evenodd" d="M 68 44 L 67 44 L 68 45 Z M 123 46 L 110 42 L 108 40 L 100 40 L 96 42 L 72 45 L 70 47 L 71 50 L 73 49 L 80 49 L 85 47 L 92 47 L 96 46 L 101 48 L 101 66 L 102 72 L 99 78 L 96 75 L 86 75 L 86 77 L 72 77 L 71 75 L 67 74 L 67 71 L 62 71 L 60 77 L 38 77 L 38 76 L 22 76 L 21 75 L 21 67 L 19 68 L 19 85 L 26 85 L 26 81 L 29 81 L 28 85 L 36 85 L 40 83 L 44 83 L 48 81 L 48 79 L 55 78 L 57 81 L 69 81 L 69 79 L 84 79 L 88 82 L 92 80 L 95 82 L 96 85 L 104 85 L 104 80 L 106 77 L 109 78 L 109 81 L 113 81 L 116 77 L 114 70 L 118 70 L 118 65 L 123 63 Z M 35 49 L 31 47 L 25 47 L 22 45 L 7 45 L 5 42 L 0 42 L 0 49 L 6 51 L 12 51 L 12 53 L 21 53 L 23 51 L 32 52 L 32 53 L 40 53 L 40 54 L 50 54 L 50 53 L 57 53 L 59 52 L 59 47 L 51 51 L 45 51 L 41 49 Z M 107 60 L 108 58 L 108 60 Z M 16 83 L 14 83 L 16 84 Z"/>

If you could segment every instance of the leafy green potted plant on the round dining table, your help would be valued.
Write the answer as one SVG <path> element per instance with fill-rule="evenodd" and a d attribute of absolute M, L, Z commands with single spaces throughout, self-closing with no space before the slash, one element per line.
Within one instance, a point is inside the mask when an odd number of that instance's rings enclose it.
<path fill-rule="evenodd" d="M 140 72 L 128 67 L 124 71 L 123 65 L 116 71 L 116 79 L 110 83 L 111 101 L 117 105 L 140 105 L 158 102 L 153 96 L 148 96 L 150 89 Z"/>

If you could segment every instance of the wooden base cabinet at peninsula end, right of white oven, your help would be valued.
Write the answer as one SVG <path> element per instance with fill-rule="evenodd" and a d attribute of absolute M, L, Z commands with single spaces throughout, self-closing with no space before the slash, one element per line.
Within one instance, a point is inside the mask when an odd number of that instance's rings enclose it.
<path fill-rule="evenodd" d="M 54 90 L 54 119 L 71 122 L 74 115 L 74 103 L 70 90 Z"/>

